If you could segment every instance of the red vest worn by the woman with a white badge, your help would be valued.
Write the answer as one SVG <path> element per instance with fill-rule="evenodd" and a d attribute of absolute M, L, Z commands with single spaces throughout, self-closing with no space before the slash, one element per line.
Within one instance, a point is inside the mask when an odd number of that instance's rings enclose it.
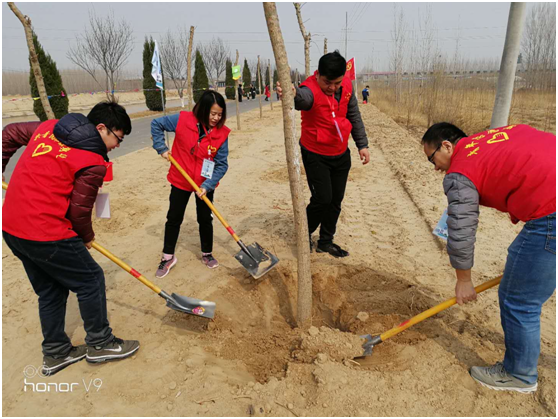
<path fill-rule="evenodd" d="M 227 140 L 231 130 L 225 126 L 213 128 L 211 132 L 198 142 L 198 120 L 192 112 L 180 112 L 176 135 L 172 145 L 172 156 L 188 173 L 196 185 L 200 186 L 205 178 L 201 175 L 203 160 L 213 160 L 219 147 Z M 179 189 L 193 192 L 194 188 L 180 174 L 178 169 L 171 165 L 167 180 Z"/>

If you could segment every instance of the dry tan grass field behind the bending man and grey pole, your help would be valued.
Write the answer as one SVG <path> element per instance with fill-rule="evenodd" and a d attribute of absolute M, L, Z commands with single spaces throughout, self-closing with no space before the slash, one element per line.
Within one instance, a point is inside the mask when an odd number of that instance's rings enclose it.
<path fill-rule="evenodd" d="M 465 133 L 488 129 L 496 96 L 495 78 L 403 81 L 401 100 L 385 81 L 370 85 L 371 103 L 407 129 L 424 132 L 436 122 L 450 122 Z M 556 133 L 556 90 L 515 91 L 510 124 L 529 124 Z"/>

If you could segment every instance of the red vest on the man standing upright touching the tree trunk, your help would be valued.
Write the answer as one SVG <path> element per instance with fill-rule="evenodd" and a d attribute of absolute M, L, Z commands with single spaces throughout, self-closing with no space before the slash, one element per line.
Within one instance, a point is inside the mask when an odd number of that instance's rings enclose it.
<path fill-rule="evenodd" d="M 317 73 L 317 72 L 316 72 Z M 302 111 L 302 133 L 300 143 L 302 146 L 317 154 L 324 156 L 339 156 L 347 151 L 349 135 L 353 125 L 347 119 L 347 108 L 353 93 L 353 85 L 348 77 L 343 77 L 341 87 L 343 95 L 337 102 L 333 96 L 327 96 L 316 79 L 316 73 L 308 77 L 301 86 L 312 90 L 314 104 L 309 111 Z M 332 115 L 335 113 L 335 118 Z M 339 131 L 335 126 L 335 122 Z M 343 140 L 341 141 L 341 137 Z"/>

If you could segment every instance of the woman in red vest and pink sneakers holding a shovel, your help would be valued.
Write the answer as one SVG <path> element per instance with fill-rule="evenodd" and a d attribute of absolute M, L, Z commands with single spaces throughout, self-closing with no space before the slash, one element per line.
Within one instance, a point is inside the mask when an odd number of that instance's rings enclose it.
<path fill-rule="evenodd" d="M 215 188 L 223 178 L 228 165 L 228 136 L 225 126 L 227 105 L 219 93 L 208 90 L 202 94 L 192 112 L 164 116 L 151 122 L 153 148 L 163 158 L 169 158 L 164 132 L 175 132 L 172 156 L 200 187 L 196 199 L 196 212 L 201 241 L 201 260 L 211 269 L 219 263 L 213 257 L 213 216 L 201 199 L 204 195 L 213 202 Z M 165 224 L 163 255 L 155 276 L 165 277 L 176 265 L 176 243 L 184 220 L 186 205 L 194 189 L 180 172 L 171 165 L 167 180 L 171 184 L 170 207 Z"/>

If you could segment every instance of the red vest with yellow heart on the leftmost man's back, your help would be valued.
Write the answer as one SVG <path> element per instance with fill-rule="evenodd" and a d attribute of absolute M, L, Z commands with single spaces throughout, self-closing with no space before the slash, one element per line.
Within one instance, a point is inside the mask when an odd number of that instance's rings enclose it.
<path fill-rule="evenodd" d="M 57 241 L 76 237 L 66 218 L 75 174 L 104 165 L 91 151 L 62 144 L 52 134 L 58 122 L 43 122 L 21 155 L 2 207 L 2 230 L 26 240 Z"/>

